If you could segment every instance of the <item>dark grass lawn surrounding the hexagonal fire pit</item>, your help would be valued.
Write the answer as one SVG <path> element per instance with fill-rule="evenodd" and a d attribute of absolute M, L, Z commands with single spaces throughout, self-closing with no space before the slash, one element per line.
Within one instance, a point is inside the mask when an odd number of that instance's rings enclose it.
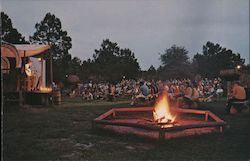
<path fill-rule="evenodd" d="M 209 134 L 168 140 L 163 143 L 133 136 L 93 133 L 91 121 L 129 101 L 87 102 L 64 99 L 60 106 L 5 105 L 3 160 L 244 160 L 250 159 L 248 114 L 226 115 L 225 101 L 206 103 L 230 128 Z"/>

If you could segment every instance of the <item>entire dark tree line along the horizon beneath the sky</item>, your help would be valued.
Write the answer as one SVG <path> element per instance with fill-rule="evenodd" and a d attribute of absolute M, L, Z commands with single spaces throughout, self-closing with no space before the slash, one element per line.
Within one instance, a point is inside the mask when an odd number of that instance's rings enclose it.
<path fill-rule="evenodd" d="M 199 74 L 203 77 L 217 77 L 220 70 L 241 65 L 250 71 L 250 66 L 244 65 L 245 60 L 239 53 L 234 53 L 219 44 L 208 41 L 203 45 L 202 53 L 197 53 L 191 59 L 188 50 L 183 46 L 172 45 L 159 59 L 161 65 L 156 69 L 150 66 L 141 70 L 135 53 L 129 48 L 121 48 L 118 43 L 104 39 L 99 49 L 94 50 L 93 58 L 81 60 L 72 57 L 72 39 L 63 30 L 62 23 L 54 14 L 47 13 L 35 24 L 35 32 L 25 40 L 25 37 L 13 27 L 10 17 L 1 12 L 3 41 L 13 44 L 40 43 L 49 44 L 53 53 L 53 77 L 56 82 L 65 81 L 69 74 L 77 75 L 81 80 L 115 82 L 127 79 L 170 79 L 193 78 Z"/>

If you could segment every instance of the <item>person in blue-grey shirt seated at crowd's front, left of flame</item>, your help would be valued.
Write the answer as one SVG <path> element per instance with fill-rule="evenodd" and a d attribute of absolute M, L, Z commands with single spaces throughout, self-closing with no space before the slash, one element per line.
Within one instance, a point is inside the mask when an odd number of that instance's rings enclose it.
<path fill-rule="evenodd" d="M 134 105 L 135 101 L 137 101 L 137 100 L 146 99 L 147 97 L 149 97 L 150 96 L 150 89 L 146 85 L 145 82 L 141 81 L 139 90 L 135 94 L 136 95 L 132 97 L 131 105 Z"/>

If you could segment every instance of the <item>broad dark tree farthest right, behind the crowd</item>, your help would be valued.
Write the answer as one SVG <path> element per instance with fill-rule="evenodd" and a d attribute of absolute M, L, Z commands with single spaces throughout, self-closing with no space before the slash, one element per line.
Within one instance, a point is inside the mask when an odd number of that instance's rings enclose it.
<path fill-rule="evenodd" d="M 209 41 L 203 46 L 202 54 L 197 53 L 193 58 L 197 73 L 206 77 L 216 77 L 220 70 L 235 68 L 244 62 L 239 53 L 235 54 L 232 50 Z"/>

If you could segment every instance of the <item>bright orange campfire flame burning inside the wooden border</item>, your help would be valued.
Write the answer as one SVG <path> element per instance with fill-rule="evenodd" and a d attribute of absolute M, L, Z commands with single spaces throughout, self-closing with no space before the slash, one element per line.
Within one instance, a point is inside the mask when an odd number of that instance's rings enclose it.
<path fill-rule="evenodd" d="M 175 121 L 176 116 L 172 115 L 167 98 L 167 92 L 163 92 L 154 106 L 153 117 L 157 123 L 173 123 Z"/>

